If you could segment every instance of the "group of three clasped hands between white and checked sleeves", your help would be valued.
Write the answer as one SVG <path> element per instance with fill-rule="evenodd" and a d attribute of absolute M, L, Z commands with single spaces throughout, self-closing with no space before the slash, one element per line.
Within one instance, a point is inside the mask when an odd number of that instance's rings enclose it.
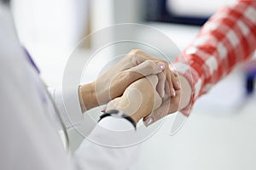
<path fill-rule="evenodd" d="M 181 100 L 181 89 L 188 87 L 165 60 L 135 49 L 95 82 L 80 86 L 79 96 L 83 112 L 107 104 L 104 111 L 123 111 L 148 126 L 188 105 L 189 99 Z"/>

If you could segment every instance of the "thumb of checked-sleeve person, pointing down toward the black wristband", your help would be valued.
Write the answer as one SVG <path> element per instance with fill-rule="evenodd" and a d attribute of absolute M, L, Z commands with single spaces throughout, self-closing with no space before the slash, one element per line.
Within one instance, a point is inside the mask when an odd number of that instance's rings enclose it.
<path fill-rule="evenodd" d="M 166 100 L 158 109 L 153 113 L 143 118 L 143 123 L 146 127 L 153 124 L 154 122 L 159 121 L 164 116 L 168 115 L 170 107 L 170 99 Z"/>

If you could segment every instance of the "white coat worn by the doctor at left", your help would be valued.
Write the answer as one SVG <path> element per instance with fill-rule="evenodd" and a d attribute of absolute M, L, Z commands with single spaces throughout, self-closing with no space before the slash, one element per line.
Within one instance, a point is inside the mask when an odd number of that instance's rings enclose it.
<path fill-rule="evenodd" d="M 47 89 L 20 48 L 10 18 L 9 10 L 0 4 L 0 169 L 129 169 L 136 159 L 137 146 L 108 148 L 84 139 L 73 156 L 67 155 Z M 99 125 L 134 128 L 131 122 L 111 116 Z M 135 130 L 125 138 L 133 133 Z M 109 135 L 98 126 L 90 133 L 91 138 L 99 140 L 109 139 Z"/>

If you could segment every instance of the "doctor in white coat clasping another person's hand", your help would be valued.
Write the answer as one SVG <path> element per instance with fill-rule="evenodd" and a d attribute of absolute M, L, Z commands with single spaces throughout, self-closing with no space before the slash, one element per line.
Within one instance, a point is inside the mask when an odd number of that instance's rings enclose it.
<path fill-rule="evenodd" d="M 32 59 L 20 48 L 9 8 L 2 3 L 0 38 L 0 169 L 128 169 L 132 166 L 137 156 L 137 146 L 109 148 L 84 139 L 74 156 L 69 157 L 57 133 L 61 125 L 66 126 L 61 124 L 56 113 L 61 107 L 58 105 L 61 101 L 57 101 L 60 98 L 53 97 L 55 102 L 52 102 Z M 106 72 L 108 77 L 119 78 L 113 81 L 110 89 L 102 83 L 103 93 L 99 93 L 99 96 L 106 103 L 119 98 L 108 103 L 107 114 L 102 116 L 90 133 L 92 139 L 122 142 L 133 138 L 137 122 L 161 105 L 161 97 L 165 94 L 158 91 L 166 84 L 163 80 L 170 85 L 166 94 L 173 96 L 172 87 L 175 90 L 179 88 L 166 62 L 146 54 L 141 57 L 141 53 L 131 51 Z M 163 73 L 164 79 L 158 76 L 159 73 Z M 101 82 L 108 82 L 108 79 L 101 77 L 95 83 Z M 93 85 L 83 85 L 73 92 L 78 94 L 82 111 L 98 105 Z M 111 99 L 104 94 L 108 90 Z M 116 116 L 116 112 L 126 117 Z M 106 133 L 101 127 L 133 130 L 119 138 L 119 135 Z"/>

